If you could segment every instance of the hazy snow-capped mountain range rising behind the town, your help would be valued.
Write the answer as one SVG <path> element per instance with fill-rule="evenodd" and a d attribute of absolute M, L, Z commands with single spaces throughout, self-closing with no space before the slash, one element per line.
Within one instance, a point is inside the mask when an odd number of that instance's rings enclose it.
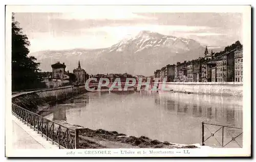
<path fill-rule="evenodd" d="M 105 49 L 73 49 L 31 53 L 41 62 L 42 71 L 52 71 L 51 64 L 65 62 L 72 72 L 80 60 L 89 74 L 129 73 L 151 76 L 165 66 L 204 56 L 204 48 L 192 39 L 141 31 Z"/>

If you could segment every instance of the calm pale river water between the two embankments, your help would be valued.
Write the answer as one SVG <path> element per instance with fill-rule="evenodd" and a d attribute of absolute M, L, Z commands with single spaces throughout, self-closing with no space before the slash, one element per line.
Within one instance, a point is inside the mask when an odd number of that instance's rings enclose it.
<path fill-rule="evenodd" d="M 202 123 L 243 127 L 243 98 L 170 91 L 95 91 L 52 107 L 46 118 L 179 144 L 201 143 Z M 205 140 L 219 126 L 205 125 Z M 223 144 L 242 132 L 224 128 Z M 222 129 L 205 145 L 220 147 Z M 225 147 L 242 146 L 242 135 Z"/>

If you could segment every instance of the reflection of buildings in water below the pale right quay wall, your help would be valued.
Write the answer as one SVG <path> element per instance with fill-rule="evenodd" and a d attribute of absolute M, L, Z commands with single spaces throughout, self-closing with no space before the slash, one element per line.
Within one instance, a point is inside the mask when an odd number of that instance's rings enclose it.
<path fill-rule="evenodd" d="M 229 126 L 242 127 L 242 97 L 161 92 L 159 96 L 155 96 L 155 103 L 168 111 L 187 113 L 206 121 L 214 119 L 218 123 L 225 120 Z"/>

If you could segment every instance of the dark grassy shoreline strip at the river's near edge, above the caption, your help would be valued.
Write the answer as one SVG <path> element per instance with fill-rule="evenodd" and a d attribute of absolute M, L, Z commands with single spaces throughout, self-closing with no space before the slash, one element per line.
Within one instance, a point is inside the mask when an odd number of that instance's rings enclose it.
<path fill-rule="evenodd" d="M 117 131 L 107 131 L 103 129 L 92 130 L 80 125 L 70 124 L 64 121 L 54 121 L 67 128 L 83 128 L 79 131 L 79 145 L 81 149 L 89 148 L 200 148 L 195 144 L 175 144 L 167 141 L 161 142 L 152 140 L 146 136 L 129 136 Z"/>

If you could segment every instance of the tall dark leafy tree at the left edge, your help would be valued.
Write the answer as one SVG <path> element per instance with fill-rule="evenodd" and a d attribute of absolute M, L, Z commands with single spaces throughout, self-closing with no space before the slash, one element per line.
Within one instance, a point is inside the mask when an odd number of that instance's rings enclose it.
<path fill-rule="evenodd" d="M 30 42 L 12 14 L 12 90 L 37 88 L 40 63 L 28 56 Z"/>

